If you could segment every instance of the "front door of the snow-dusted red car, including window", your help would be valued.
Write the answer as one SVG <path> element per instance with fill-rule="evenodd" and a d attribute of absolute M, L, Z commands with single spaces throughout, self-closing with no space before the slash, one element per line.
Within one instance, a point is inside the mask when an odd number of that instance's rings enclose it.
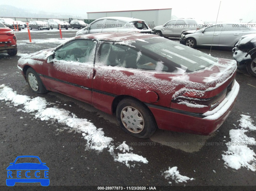
<path fill-rule="evenodd" d="M 91 103 L 96 45 L 96 41 L 77 39 L 55 50 L 54 59 L 43 65 L 46 87 Z"/>

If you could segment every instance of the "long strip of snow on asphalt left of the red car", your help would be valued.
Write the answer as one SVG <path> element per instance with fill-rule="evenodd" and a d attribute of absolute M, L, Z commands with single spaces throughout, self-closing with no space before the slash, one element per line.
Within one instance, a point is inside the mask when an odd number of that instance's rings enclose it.
<path fill-rule="evenodd" d="M 124 163 L 129 168 L 129 161 L 148 163 L 146 158 L 129 153 L 133 149 L 129 147 L 125 141 L 118 147 L 115 147 L 112 143 L 114 140 L 110 137 L 106 137 L 102 128 L 96 128 L 96 126 L 87 119 L 78 118 L 68 110 L 58 108 L 57 106 L 51 107 L 50 105 L 52 104 L 48 103 L 45 98 L 30 98 L 26 95 L 18 95 L 16 91 L 13 91 L 10 87 L 0 85 L 0 100 L 11 101 L 14 106 L 23 104 L 23 109 L 18 109 L 17 112 L 22 111 L 33 114 L 35 116 L 34 118 L 40 118 L 42 121 L 56 120 L 60 124 L 82 132 L 82 136 L 87 141 L 86 149 L 102 152 L 104 149 L 109 148 L 109 152 L 113 156 L 114 161 Z M 115 154 L 115 150 L 120 150 L 122 154 Z M 132 165 L 132 167 L 134 166 L 135 164 Z"/>

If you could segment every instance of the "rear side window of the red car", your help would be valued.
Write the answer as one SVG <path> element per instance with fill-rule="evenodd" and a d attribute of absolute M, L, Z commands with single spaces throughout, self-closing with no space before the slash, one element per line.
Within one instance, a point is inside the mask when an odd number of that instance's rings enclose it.
<path fill-rule="evenodd" d="M 122 66 L 126 68 L 168 71 L 161 61 L 136 51 L 127 45 L 102 43 L 99 51 L 100 65 Z"/>

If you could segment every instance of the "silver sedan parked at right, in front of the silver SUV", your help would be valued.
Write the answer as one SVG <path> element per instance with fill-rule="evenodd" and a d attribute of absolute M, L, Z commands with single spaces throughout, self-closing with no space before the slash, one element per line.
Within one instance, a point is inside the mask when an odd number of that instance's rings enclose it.
<path fill-rule="evenodd" d="M 220 23 L 201 30 L 185 32 L 181 35 L 180 43 L 192 48 L 198 45 L 234 47 L 242 35 L 250 33 L 256 33 L 256 28 L 246 24 Z"/>

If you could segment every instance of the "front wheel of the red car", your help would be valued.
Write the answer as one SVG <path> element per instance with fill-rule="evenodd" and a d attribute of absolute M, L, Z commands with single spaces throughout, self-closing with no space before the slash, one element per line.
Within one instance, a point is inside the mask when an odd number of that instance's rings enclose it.
<path fill-rule="evenodd" d="M 48 92 L 44 87 L 40 77 L 38 76 L 36 71 L 34 71 L 32 68 L 27 69 L 26 77 L 27 77 L 28 85 L 33 92 L 40 93 L 40 94 Z"/>

